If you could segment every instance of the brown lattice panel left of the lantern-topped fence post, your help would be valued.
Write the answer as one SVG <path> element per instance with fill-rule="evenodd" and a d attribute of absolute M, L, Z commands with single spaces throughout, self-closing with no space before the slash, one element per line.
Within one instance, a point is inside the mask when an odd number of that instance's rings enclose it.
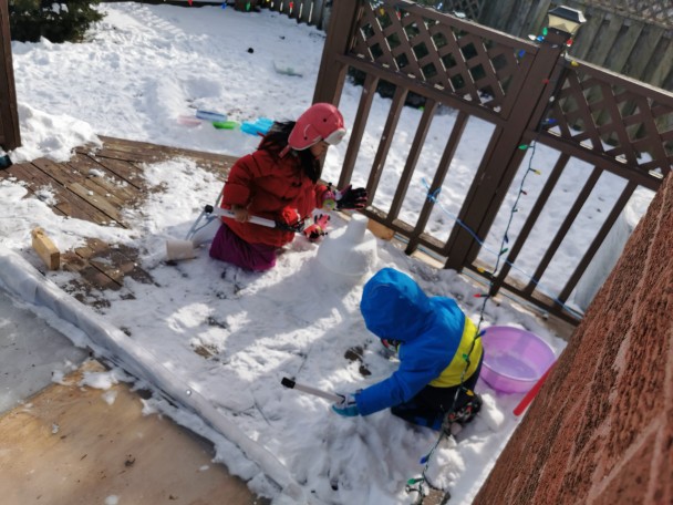
<path fill-rule="evenodd" d="M 364 2 L 351 54 L 463 100 L 501 107 L 521 71 L 517 48 L 470 32 L 470 24 L 452 24 L 454 18 L 401 6 Z"/>

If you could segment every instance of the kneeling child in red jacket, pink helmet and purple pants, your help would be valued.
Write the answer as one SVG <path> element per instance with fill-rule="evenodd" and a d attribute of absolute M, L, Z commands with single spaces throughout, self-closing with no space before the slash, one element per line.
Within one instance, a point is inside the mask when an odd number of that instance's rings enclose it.
<path fill-rule="evenodd" d="M 329 103 L 309 107 L 297 122 L 273 123 L 259 147 L 238 159 L 225 184 L 221 206 L 235 217 L 222 217 L 210 257 L 255 271 L 276 265 L 280 247 L 293 240 L 293 227 L 313 209 L 363 208 L 364 188 L 333 192 L 319 184 L 320 158 L 345 135 L 343 116 Z M 250 221 L 259 216 L 280 223 L 269 228 Z M 312 229 L 313 237 L 322 233 Z"/>

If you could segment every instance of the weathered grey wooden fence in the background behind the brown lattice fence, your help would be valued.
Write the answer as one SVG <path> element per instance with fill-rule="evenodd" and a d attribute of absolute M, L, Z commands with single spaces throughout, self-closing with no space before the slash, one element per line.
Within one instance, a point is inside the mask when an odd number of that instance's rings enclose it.
<path fill-rule="evenodd" d="M 370 2 L 373 4 L 376 1 Z M 617 73 L 673 91 L 673 3 L 651 0 L 417 0 L 437 12 L 458 13 L 526 39 L 547 23 L 558 4 L 582 11 L 587 23 L 569 54 Z M 327 30 L 333 0 L 261 0 L 298 22 Z"/>

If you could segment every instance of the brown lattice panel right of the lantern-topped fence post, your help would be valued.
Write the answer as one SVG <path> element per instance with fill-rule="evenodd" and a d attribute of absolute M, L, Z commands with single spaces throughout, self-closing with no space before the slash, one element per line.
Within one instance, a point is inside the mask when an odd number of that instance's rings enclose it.
<path fill-rule="evenodd" d="M 673 97 L 638 90 L 600 69 L 571 69 L 551 107 L 552 131 L 648 176 L 665 176 L 673 166 Z"/>

